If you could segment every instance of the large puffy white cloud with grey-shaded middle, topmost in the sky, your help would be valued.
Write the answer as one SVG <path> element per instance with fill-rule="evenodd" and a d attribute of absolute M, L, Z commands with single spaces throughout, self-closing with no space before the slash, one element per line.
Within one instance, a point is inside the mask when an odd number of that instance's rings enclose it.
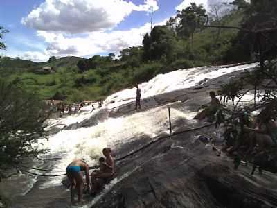
<path fill-rule="evenodd" d="M 158 10 L 157 0 L 135 5 L 124 0 L 46 0 L 21 23 L 39 31 L 87 33 L 114 28 L 132 11 Z"/>

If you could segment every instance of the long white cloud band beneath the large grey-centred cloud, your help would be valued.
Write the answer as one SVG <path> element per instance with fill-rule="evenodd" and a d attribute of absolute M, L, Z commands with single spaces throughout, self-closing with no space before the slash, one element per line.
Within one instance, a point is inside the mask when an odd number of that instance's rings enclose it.
<path fill-rule="evenodd" d="M 47 52 L 51 55 L 96 55 L 103 52 L 113 52 L 130 46 L 142 44 L 143 36 L 150 31 L 150 23 L 129 31 L 98 31 L 87 33 L 82 37 L 65 36 L 62 33 L 38 31 L 37 35 L 48 42 Z"/>

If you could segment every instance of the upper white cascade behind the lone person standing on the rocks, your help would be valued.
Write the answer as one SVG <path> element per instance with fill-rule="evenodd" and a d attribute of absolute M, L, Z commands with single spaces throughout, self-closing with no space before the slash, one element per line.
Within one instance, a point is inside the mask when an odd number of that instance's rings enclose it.
<path fill-rule="evenodd" d="M 179 69 L 170 73 L 159 74 L 146 83 L 139 84 L 141 98 L 148 98 L 157 94 L 172 92 L 177 89 L 193 87 L 203 80 L 217 78 L 234 71 L 253 69 L 258 64 L 246 64 L 237 67 L 196 67 L 191 69 Z M 124 89 L 107 97 L 107 101 L 115 101 L 107 107 L 118 107 L 130 101 L 134 101 L 136 88 Z"/>

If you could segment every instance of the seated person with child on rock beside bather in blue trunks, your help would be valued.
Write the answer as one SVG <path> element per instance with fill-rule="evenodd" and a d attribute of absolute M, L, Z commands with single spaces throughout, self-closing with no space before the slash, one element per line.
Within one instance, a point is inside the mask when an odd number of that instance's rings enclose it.
<path fill-rule="evenodd" d="M 106 159 L 105 162 L 101 162 L 100 166 L 105 166 L 105 168 L 91 174 L 91 196 L 95 196 L 103 184 L 109 183 L 114 178 L 114 157 L 111 156 L 111 149 L 104 148 L 103 155 Z"/>

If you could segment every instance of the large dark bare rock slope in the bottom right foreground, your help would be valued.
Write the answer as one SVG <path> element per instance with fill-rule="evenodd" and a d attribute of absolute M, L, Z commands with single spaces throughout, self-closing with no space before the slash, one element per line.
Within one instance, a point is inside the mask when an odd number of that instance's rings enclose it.
<path fill-rule="evenodd" d="M 118 164 L 118 175 L 135 171 L 92 207 L 277 207 L 276 175 L 234 170 L 232 159 L 195 139 L 206 130 L 164 139 Z"/>

